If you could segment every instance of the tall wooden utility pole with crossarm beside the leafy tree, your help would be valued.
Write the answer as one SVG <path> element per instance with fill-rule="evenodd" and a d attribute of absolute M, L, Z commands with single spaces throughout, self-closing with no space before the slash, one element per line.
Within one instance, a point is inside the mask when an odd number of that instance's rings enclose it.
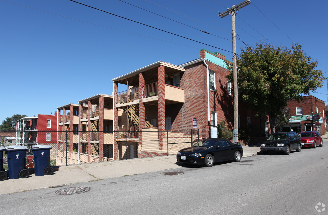
<path fill-rule="evenodd" d="M 246 0 L 239 5 L 233 5 L 232 8 L 223 13 L 219 13 L 221 18 L 227 16 L 228 14 L 232 15 L 232 66 L 234 72 L 234 142 L 238 142 L 238 85 L 237 85 L 237 53 L 236 53 L 236 13 L 240 8 L 245 7 L 246 5 L 251 4 L 250 0 Z"/>

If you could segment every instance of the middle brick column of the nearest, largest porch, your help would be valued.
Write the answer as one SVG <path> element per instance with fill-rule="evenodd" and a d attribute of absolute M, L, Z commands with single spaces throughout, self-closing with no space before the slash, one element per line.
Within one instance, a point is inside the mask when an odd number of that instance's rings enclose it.
<path fill-rule="evenodd" d="M 145 73 L 140 72 L 139 73 L 139 132 L 138 132 L 138 138 L 139 138 L 139 143 L 138 143 L 138 158 L 141 157 L 141 149 L 142 149 L 142 128 L 145 127 L 145 105 L 143 104 L 143 94 L 144 94 L 144 86 L 145 86 Z"/>

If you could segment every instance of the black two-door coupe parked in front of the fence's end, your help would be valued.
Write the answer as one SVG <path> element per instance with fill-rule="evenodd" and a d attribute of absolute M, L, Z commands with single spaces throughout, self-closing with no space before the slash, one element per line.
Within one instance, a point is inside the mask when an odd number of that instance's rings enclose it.
<path fill-rule="evenodd" d="M 197 142 L 192 147 L 181 149 L 176 155 L 176 160 L 210 167 L 215 162 L 228 160 L 239 162 L 243 153 L 239 143 L 232 143 L 224 138 L 209 138 Z"/>

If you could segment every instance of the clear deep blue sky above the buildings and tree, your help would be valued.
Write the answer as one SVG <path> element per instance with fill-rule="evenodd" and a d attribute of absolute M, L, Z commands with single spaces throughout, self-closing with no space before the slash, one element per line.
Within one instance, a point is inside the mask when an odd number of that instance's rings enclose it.
<path fill-rule="evenodd" d="M 157 61 L 180 65 L 199 58 L 200 49 L 218 51 L 231 60 L 231 15 L 220 18 L 218 11 L 242 0 L 124 1 L 139 8 L 119 0 L 79 0 L 227 51 L 69 0 L 0 0 L 0 123 L 13 114 L 53 114 L 56 107 L 99 93 L 112 94 L 113 78 Z M 236 31 L 243 42 L 302 44 L 327 76 L 327 15 L 322 12 L 328 7 L 326 0 L 251 2 L 236 16 Z M 239 47 L 245 45 L 237 40 L 237 53 Z M 327 104 L 327 83 L 311 94 Z"/>

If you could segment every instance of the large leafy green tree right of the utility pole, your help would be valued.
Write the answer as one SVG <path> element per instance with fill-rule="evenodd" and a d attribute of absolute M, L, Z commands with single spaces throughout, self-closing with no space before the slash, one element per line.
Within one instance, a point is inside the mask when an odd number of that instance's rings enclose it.
<path fill-rule="evenodd" d="M 275 132 L 275 118 L 289 99 L 300 100 L 323 85 L 323 73 L 315 70 L 318 61 L 312 60 L 293 44 L 274 47 L 259 43 L 241 48 L 237 58 L 238 96 L 258 114 L 267 114 L 271 133 Z M 233 80 L 232 65 L 227 76 Z"/>

